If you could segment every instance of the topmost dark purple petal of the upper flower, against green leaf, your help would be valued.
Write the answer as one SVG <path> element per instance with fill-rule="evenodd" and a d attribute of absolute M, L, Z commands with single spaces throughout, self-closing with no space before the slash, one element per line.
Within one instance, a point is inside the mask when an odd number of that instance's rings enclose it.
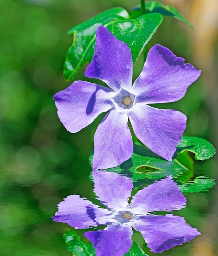
<path fill-rule="evenodd" d="M 104 81 L 118 91 L 132 86 L 132 55 L 129 47 L 118 40 L 106 28 L 99 26 L 93 59 L 85 71 L 85 76 Z"/>

